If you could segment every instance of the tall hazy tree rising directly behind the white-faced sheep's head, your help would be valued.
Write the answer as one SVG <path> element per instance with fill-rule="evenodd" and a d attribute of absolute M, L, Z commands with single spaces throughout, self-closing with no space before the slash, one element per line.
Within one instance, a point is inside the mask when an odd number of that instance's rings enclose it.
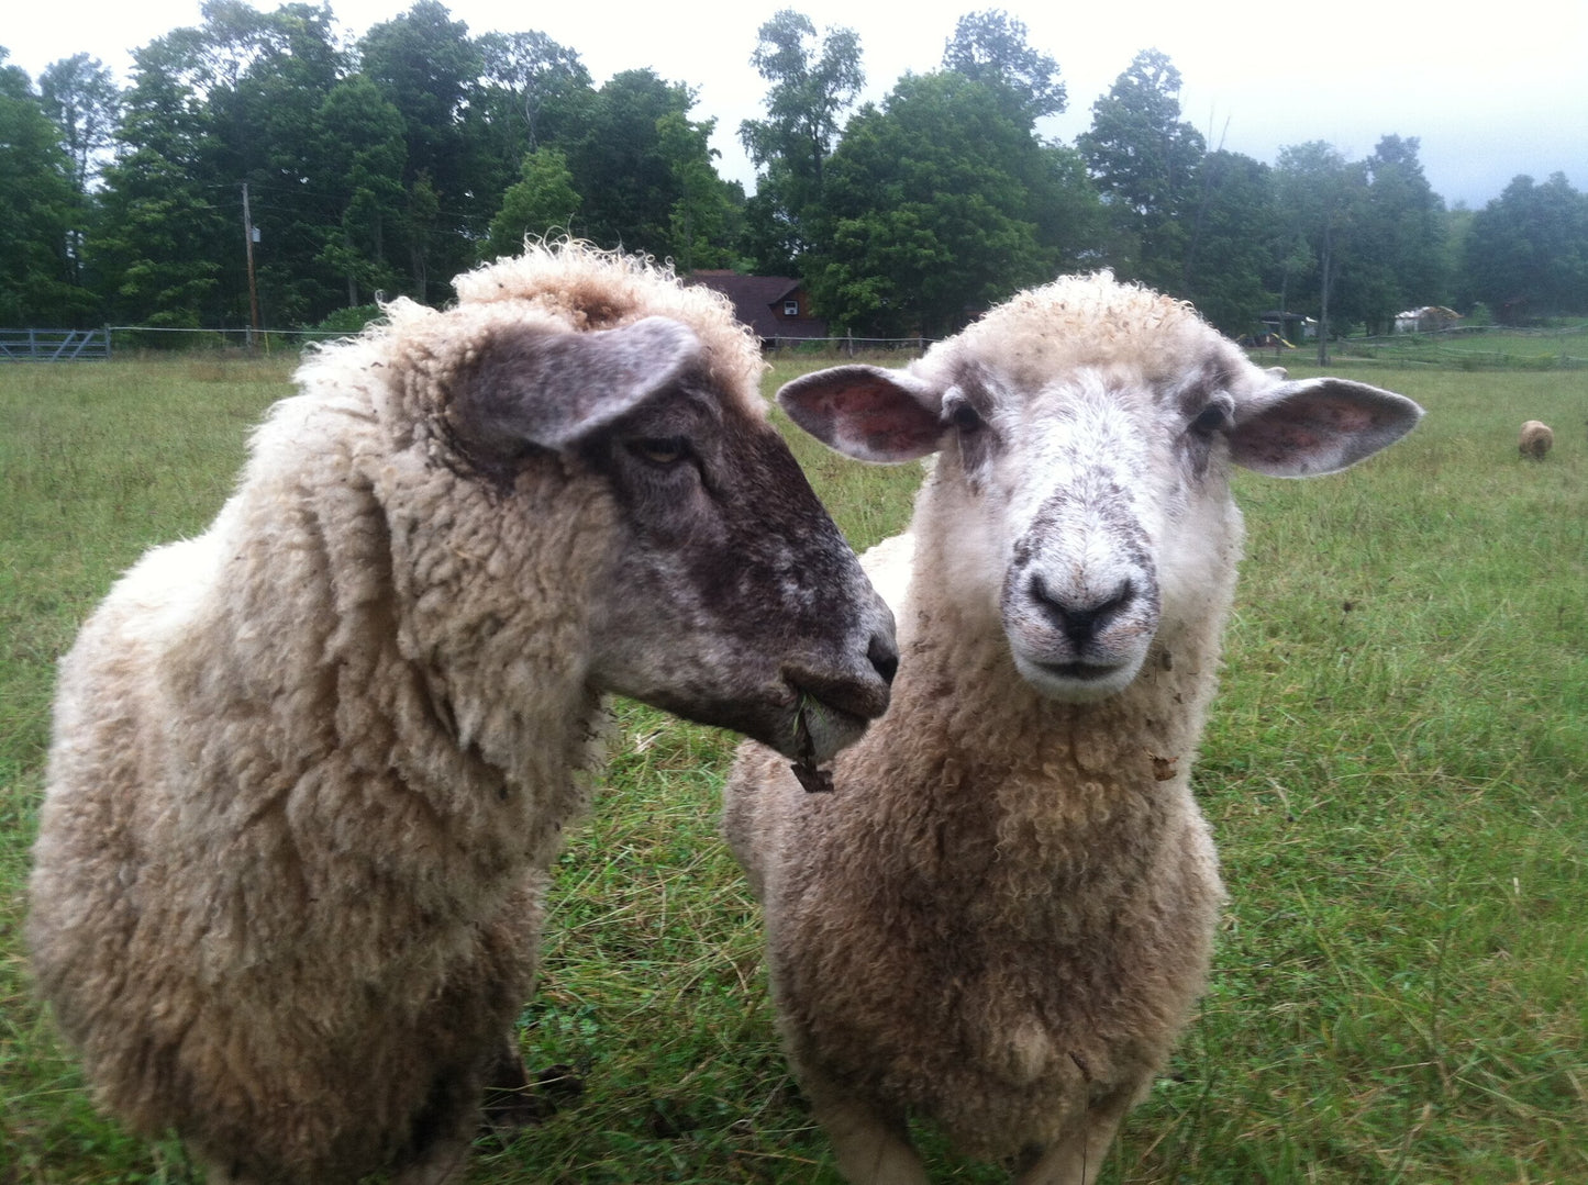
<path fill-rule="evenodd" d="M 1091 128 L 1075 146 L 1110 209 L 1121 273 L 1164 290 L 1181 287 L 1205 141 L 1180 119 L 1180 71 L 1169 57 L 1139 52 L 1093 103 Z"/>

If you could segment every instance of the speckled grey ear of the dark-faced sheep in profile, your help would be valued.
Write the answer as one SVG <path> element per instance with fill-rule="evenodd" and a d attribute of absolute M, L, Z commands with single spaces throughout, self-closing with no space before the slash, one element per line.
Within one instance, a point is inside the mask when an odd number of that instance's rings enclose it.
<path fill-rule="evenodd" d="M 462 374 L 448 414 L 476 447 L 567 449 L 667 390 L 700 362 L 667 317 L 591 333 L 503 332 Z"/>

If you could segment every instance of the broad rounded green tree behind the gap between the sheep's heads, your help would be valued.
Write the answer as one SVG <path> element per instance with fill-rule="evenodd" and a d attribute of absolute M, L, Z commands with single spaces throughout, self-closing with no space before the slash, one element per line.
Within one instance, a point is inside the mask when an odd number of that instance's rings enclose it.
<path fill-rule="evenodd" d="M 1072 262 L 1046 219 L 1088 194 L 1073 155 L 1042 144 L 997 92 L 954 71 L 905 75 L 832 155 L 813 295 L 859 332 L 951 333 Z"/>

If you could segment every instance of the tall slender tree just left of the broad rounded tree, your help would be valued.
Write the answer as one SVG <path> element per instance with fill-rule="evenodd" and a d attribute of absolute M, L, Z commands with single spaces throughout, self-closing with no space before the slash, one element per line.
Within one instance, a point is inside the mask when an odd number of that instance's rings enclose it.
<path fill-rule="evenodd" d="M 810 17 L 784 8 L 761 25 L 750 62 L 767 81 L 767 117 L 746 119 L 738 138 L 754 162 L 756 195 L 746 211 L 750 243 L 762 271 L 797 270 L 810 247 L 807 221 L 823 197 L 838 119 L 853 106 L 865 73 L 853 29 L 819 38 Z"/>

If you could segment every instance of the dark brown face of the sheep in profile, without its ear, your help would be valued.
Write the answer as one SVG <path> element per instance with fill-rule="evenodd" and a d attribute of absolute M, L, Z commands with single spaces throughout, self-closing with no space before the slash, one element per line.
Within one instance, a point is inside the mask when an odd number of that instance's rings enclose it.
<path fill-rule="evenodd" d="M 600 687 L 783 752 L 821 725 L 823 760 L 883 711 L 891 619 L 770 422 L 686 385 L 581 460 L 619 516 L 592 622 Z"/>

